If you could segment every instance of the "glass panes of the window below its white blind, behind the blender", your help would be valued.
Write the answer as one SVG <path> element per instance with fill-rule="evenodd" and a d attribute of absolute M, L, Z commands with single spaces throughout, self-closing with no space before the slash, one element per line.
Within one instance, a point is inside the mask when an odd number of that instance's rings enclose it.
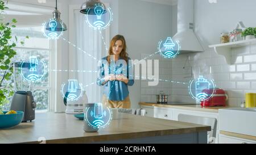
<path fill-rule="evenodd" d="M 39 60 L 43 60 L 46 66 L 49 66 L 49 40 L 43 36 L 41 27 L 23 27 L 13 29 L 13 36 L 23 40 L 26 36 L 29 39 L 24 40 L 25 44 L 18 44 L 15 47 L 16 56 L 13 59 L 15 61 L 29 61 L 30 56 L 37 56 Z M 32 83 L 32 94 L 36 102 L 36 112 L 47 112 L 49 109 L 49 69 L 46 69 L 46 76 L 42 81 Z M 23 82 L 26 82 L 23 79 Z M 11 103 L 11 102 L 10 102 Z M 10 103 L 5 105 L 5 110 L 10 108 Z"/>

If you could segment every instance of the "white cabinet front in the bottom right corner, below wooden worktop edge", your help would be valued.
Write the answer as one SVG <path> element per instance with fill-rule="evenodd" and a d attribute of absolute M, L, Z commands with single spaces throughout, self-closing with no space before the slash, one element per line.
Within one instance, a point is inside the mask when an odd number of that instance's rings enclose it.
<path fill-rule="evenodd" d="M 256 144 L 256 141 L 220 134 L 219 143 L 220 144 Z"/>

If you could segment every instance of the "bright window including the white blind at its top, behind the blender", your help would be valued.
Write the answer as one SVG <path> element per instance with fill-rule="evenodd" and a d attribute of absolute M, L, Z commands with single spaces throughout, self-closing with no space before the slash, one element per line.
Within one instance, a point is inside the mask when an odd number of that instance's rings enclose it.
<path fill-rule="evenodd" d="M 12 28 L 13 38 L 15 38 L 15 36 L 18 38 L 18 43 L 14 48 L 16 56 L 12 61 L 29 61 L 31 56 L 36 56 L 38 60 L 44 61 L 44 64 L 47 66 L 44 78 L 38 82 L 32 83 L 31 91 L 36 102 L 36 112 L 48 112 L 51 96 L 50 51 L 51 48 L 56 45 L 56 42 L 52 41 L 51 43 L 51 41 L 43 35 L 42 23 L 51 18 L 52 8 L 15 1 L 10 1 L 7 7 L 9 7 L 9 9 L 4 12 L 5 20 L 11 21 L 11 19 L 15 18 L 18 21 L 15 24 L 16 28 Z M 29 39 L 26 39 L 26 36 L 29 36 Z M 20 41 L 24 41 L 24 45 L 20 44 Z M 23 78 L 20 83 L 26 83 L 26 80 Z M 24 85 L 27 84 L 29 84 L 29 82 Z M 9 110 L 11 98 L 9 100 L 10 102 L 4 105 L 4 110 Z"/>

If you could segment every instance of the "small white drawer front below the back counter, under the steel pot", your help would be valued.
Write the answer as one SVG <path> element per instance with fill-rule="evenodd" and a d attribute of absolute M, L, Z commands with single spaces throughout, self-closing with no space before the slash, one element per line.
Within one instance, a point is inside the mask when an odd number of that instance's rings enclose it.
<path fill-rule="evenodd" d="M 172 109 L 170 108 L 154 108 L 154 118 L 173 120 L 172 115 Z"/>

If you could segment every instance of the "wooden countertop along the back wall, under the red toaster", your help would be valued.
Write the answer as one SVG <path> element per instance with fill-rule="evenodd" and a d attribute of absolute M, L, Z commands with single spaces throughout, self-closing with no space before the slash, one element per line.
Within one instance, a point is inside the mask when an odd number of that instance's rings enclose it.
<path fill-rule="evenodd" d="M 221 108 L 232 108 L 230 106 L 225 107 L 201 107 L 200 104 L 191 104 L 191 105 L 167 105 L 167 104 L 156 104 L 156 103 L 146 103 L 139 102 L 141 106 L 154 106 L 154 107 L 166 107 L 166 108 L 179 108 L 184 110 L 196 110 L 196 111 L 206 111 L 206 112 L 218 112 Z"/>

